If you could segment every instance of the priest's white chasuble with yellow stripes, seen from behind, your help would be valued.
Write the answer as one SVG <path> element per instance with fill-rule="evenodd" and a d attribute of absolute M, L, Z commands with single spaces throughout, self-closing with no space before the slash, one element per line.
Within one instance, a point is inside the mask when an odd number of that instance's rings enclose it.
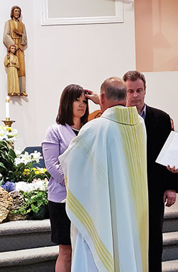
<path fill-rule="evenodd" d="M 148 271 L 146 130 L 135 107 L 85 124 L 59 157 L 78 231 L 73 272 Z"/>

